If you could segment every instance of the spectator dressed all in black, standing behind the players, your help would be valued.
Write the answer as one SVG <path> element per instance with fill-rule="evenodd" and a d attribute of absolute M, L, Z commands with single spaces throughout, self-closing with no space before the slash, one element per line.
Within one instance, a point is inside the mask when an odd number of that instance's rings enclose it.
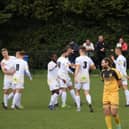
<path fill-rule="evenodd" d="M 98 42 L 97 42 L 96 47 L 95 47 L 96 59 L 97 59 L 96 65 L 100 69 L 101 69 L 101 61 L 106 56 L 105 48 L 106 47 L 105 47 L 105 43 L 104 43 L 104 37 L 103 37 L 103 35 L 100 35 L 98 37 Z"/>

